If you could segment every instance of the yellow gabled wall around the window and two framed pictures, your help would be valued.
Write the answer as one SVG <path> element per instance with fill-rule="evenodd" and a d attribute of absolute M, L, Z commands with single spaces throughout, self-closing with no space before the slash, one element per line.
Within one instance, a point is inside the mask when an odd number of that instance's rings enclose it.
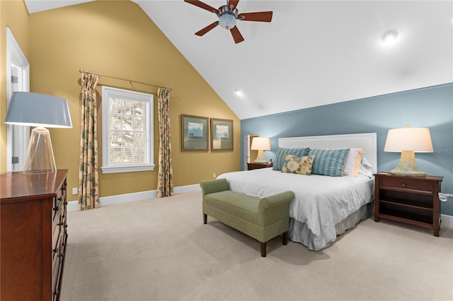
<path fill-rule="evenodd" d="M 1 1 L 3 4 L 4 1 Z M 3 13 L 3 7 L 2 7 Z M 80 69 L 171 88 L 171 143 L 175 187 L 198 184 L 212 174 L 240 170 L 240 122 L 193 66 L 167 40 L 142 9 L 130 1 L 94 1 L 33 13 L 30 22 L 30 91 L 66 98 L 72 129 L 50 129 L 57 168 L 68 169 L 71 188 L 79 179 Z M 130 83 L 101 77 L 100 83 L 131 88 Z M 134 84 L 137 90 L 156 88 Z M 155 97 L 156 100 L 156 97 Z M 98 98 L 98 102 L 101 99 Z M 156 105 L 155 111 L 156 111 Z M 234 151 L 181 152 L 180 115 L 234 120 Z M 98 106 L 101 117 L 101 105 Z M 101 129 L 101 118 L 98 120 Z M 101 196 L 156 189 L 159 148 L 154 123 L 156 169 L 103 175 Z M 101 146 L 101 136 L 98 141 Z M 99 152 L 101 167 L 101 150 Z M 2 160 L 4 155 L 2 154 Z"/>

